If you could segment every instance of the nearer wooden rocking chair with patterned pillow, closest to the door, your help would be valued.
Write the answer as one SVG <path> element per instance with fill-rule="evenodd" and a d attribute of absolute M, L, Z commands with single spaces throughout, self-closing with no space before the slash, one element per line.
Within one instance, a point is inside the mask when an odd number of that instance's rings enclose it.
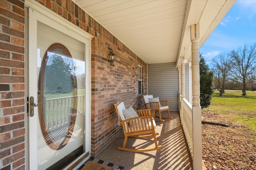
<path fill-rule="evenodd" d="M 152 118 L 153 115 L 150 113 L 150 109 L 142 109 L 137 110 L 138 117 L 134 117 L 131 119 L 125 119 L 123 110 L 125 110 L 125 106 L 123 102 L 118 101 L 114 104 L 116 112 L 118 113 L 119 118 L 121 119 L 120 123 L 122 124 L 124 130 L 124 144 L 122 147 L 118 147 L 117 149 L 130 151 L 130 152 L 147 152 L 152 150 L 162 149 L 162 145 L 157 144 L 156 135 L 159 133 L 155 132 L 156 123 Z M 128 137 L 133 138 L 149 138 L 153 137 L 155 146 L 154 148 L 146 148 L 146 149 L 129 149 L 126 148 L 126 142 Z"/>

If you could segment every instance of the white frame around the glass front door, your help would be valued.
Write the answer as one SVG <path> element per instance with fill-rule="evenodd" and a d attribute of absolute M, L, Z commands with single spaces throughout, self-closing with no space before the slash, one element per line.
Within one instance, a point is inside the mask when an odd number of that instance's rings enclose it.
<path fill-rule="evenodd" d="M 26 24 L 26 82 L 25 82 L 25 86 L 26 86 L 26 98 L 29 98 L 30 96 L 32 96 L 33 94 L 29 94 L 29 55 L 34 55 L 34 51 L 36 51 L 35 49 L 36 47 L 36 42 L 37 42 L 37 37 L 32 37 L 29 36 L 29 34 L 35 34 L 33 32 L 33 30 L 29 31 L 29 24 L 33 24 L 32 21 L 34 21 L 34 24 L 37 23 L 37 21 L 40 21 L 42 23 L 45 23 L 46 25 L 49 25 L 51 27 L 54 27 L 54 29 L 57 29 L 58 31 L 61 31 L 62 33 L 65 33 L 75 39 L 77 39 L 78 41 L 82 41 L 84 42 L 84 39 L 86 39 L 88 41 L 88 43 L 86 44 L 85 47 L 85 72 L 86 72 L 86 76 L 85 76 L 85 82 L 86 82 L 86 96 L 85 96 L 85 129 L 86 133 L 85 133 L 85 138 L 88 139 L 85 141 L 85 150 L 89 151 L 89 156 L 91 153 L 91 39 L 92 39 L 92 35 L 90 35 L 89 33 L 87 33 L 86 31 L 82 30 L 80 27 L 77 27 L 76 25 L 74 25 L 73 23 L 69 22 L 68 20 L 65 20 L 64 18 L 62 18 L 61 16 L 59 16 L 58 14 L 52 12 L 51 10 L 49 10 L 48 8 L 42 6 L 39 2 L 36 1 L 31 1 L 31 0 L 25 0 L 25 7 L 26 7 L 26 16 L 25 16 L 25 24 Z M 30 11 L 30 13 L 35 13 L 35 14 L 29 14 L 28 11 Z M 35 12 L 34 12 L 35 11 Z M 29 16 L 29 18 L 28 18 Z M 58 25 L 58 26 L 56 26 Z M 36 25 L 34 25 L 36 27 Z M 78 36 L 77 36 L 78 35 Z M 32 46 L 31 46 L 32 45 Z M 37 99 L 35 101 L 35 103 L 37 102 Z M 29 110 L 29 104 L 27 104 L 27 110 Z M 30 162 L 37 162 L 37 157 L 34 158 L 32 156 L 30 156 L 30 148 L 31 147 L 35 147 L 35 146 L 30 146 L 30 135 L 29 129 L 33 129 L 32 127 L 29 127 L 30 123 L 29 123 L 29 113 L 28 116 L 26 117 L 26 169 L 37 169 L 36 167 L 30 167 Z M 36 128 L 34 128 L 36 129 Z M 37 146 L 36 146 L 37 147 Z M 86 152 L 85 152 L 86 153 Z M 82 160 L 85 157 L 85 153 L 82 154 L 81 156 L 79 156 L 78 158 L 76 158 L 76 160 L 74 160 L 73 162 L 71 162 L 66 168 L 72 167 L 72 164 L 74 164 L 75 162 L 78 162 L 78 160 Z M 87 156 L 88 157 L 88 156 Z"/>

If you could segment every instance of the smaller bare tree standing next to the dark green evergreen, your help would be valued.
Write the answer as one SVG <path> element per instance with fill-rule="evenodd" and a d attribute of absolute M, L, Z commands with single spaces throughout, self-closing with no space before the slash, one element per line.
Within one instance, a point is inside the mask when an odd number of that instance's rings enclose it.
<path fill-rule="evenodd" d="M 231 75 L 233 62 L 230 56 L 223 53 L 214 57 L 212 59 L 212 64 L 212 71 L 214 72 L 214 84 L 216 88 L 218 88 L 220 96 L 222 96 L 222 93 L 225 92 L 224 90 L 227 78 Z"/>

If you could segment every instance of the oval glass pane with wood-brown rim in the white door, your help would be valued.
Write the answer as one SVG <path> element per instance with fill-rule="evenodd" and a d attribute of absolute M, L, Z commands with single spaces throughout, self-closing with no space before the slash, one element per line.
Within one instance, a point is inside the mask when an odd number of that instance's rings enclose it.
<path fill-rule="evenodd" d="M 54 43 L 44 54 L 38 78 L 38 113 L 42 135 L 53 150 L 70 140 L 77 114 L 76 68 L 68 49 Z"/>

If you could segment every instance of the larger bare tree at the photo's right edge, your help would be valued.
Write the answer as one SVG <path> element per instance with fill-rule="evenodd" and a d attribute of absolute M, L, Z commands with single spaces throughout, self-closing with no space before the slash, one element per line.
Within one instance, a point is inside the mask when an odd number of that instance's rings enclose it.
<path fill-rule="evenodd" d="M 246 84 L 251 81 L 251 75 L 256 70 L 256 43 L 253 45 L 244 45 L 237 51 L 232 51 L 230 56 L 234 62 L 233 76 L 238 82 L 243 83 L 243 96 L 246 95 Z"/>

